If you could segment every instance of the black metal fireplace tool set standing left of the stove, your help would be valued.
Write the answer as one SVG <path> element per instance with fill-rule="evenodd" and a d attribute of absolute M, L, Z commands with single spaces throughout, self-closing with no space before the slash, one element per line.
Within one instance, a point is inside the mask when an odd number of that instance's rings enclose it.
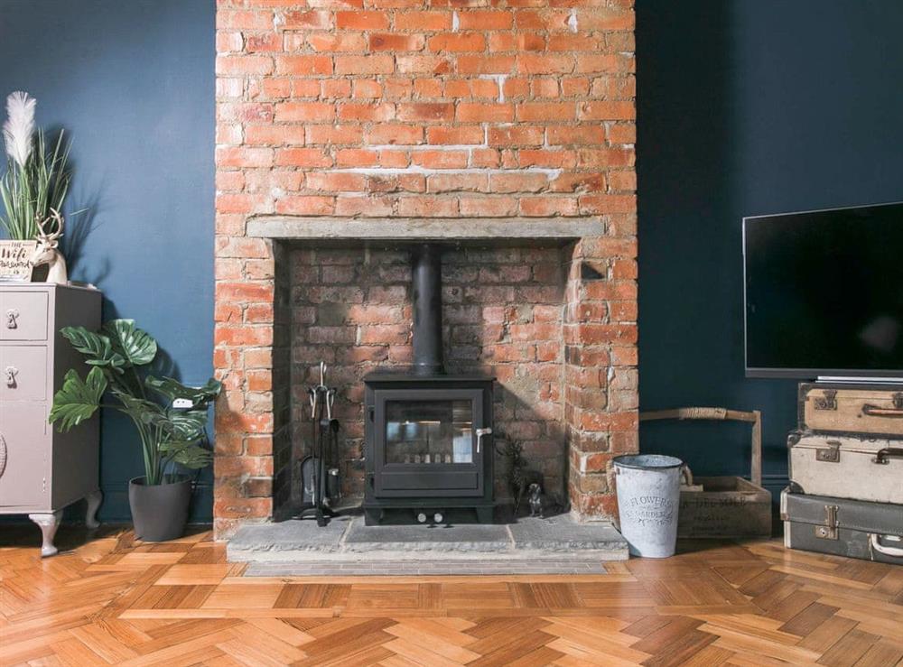
<path fill-rule="evenodd" d="M 332 416 L 336 389 L 326 385 L 326 363 L 320 363 L 320 384 L 307 390 L 311 401 L 311 453 L 301 461 L 302 510 L 296 519 L 316 519 L 323 527 L 336 516 L 332 507 L 341 495 L 339 420 Z"/>

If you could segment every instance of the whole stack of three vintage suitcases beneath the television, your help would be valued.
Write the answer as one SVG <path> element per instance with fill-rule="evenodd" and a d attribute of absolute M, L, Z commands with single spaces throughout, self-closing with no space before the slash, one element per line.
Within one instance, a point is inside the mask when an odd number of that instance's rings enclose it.
<path fill-rule="evenodd" d="M 903 389 L 800 384 L 787 446 L 787 547 L 903 564 Z"/>

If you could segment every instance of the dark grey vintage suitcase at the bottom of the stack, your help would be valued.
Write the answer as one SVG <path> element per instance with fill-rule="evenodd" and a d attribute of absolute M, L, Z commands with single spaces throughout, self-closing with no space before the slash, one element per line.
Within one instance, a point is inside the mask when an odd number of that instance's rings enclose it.
<path fill-rule="evenodd" d="M 784 545 L 903 565 L 903 505 L 781 492 Z"/>

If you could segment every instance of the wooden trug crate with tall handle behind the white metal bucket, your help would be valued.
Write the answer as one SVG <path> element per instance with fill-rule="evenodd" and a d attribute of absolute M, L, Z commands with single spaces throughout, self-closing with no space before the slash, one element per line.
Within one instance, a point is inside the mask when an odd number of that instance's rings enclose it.
<path fill-rule="evenodd" d="M 696 477 L 684 467 L 688 484 L 681 486 L 677 514 L 678 537 L 768 537 L 771 535 L 771 493 L 762 487 L 762 415 L 726 408 L 676 408 L 642 412 L 640 422 L 675 419 L 752 424 L 750 481 L 743 477 Z"/>

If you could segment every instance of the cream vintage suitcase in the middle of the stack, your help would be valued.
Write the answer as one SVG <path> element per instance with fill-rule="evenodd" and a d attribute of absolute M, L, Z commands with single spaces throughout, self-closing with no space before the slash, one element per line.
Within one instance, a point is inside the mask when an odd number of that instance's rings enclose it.
<path fill-rule="evenodd" d="M 803 493 L 903 505 L 903 440 L 792 431 L 787 447 Z"/>

